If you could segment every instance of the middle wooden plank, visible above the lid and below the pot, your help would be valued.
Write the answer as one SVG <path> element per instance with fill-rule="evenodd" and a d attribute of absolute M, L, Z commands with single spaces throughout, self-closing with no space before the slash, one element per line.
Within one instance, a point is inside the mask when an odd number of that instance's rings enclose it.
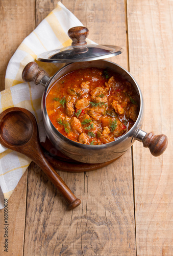
<path fill-rule="evenodd" d="M 125 48 L 114 59 L 127 68 L 124 2 L 62 3 L 89 28 L 91 39 Z M 44 12 L 49 11 L 50 2 L 44 1 Z M 131 151 L 103 169 L 58 173 L 82 203 L 67 210 L 62 196 L 35 166 L 28 180 L 24 256 L 136 255 Z"/>

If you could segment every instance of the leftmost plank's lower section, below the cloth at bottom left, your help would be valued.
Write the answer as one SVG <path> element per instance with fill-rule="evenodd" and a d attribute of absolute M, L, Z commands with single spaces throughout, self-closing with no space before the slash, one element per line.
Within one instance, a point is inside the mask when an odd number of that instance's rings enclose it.
<path fill-rule="evenodd" d="M 27 176 L 28 172 L 26 171 L 8 200 L 8 252 L 4 251 L 4 209 L 0 210 L 0 254 L 2 256 L 22 255 L 23 253 Z"/>

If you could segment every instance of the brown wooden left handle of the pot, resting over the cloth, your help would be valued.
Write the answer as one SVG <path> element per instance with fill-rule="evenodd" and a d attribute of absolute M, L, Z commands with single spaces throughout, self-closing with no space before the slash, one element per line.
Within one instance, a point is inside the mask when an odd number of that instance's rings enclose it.
<path fill-rule="evenodd" d="M 25 82 L 34 82 L 35 84 L 41 84 L 42 86 L 45 86 L 50 79 L 49 76 L 46 76 L 45 71 L 40 70 L 38 64 L 34 61 L 29 62 L 27 66 L 24 67 L 21 76 Z"/>

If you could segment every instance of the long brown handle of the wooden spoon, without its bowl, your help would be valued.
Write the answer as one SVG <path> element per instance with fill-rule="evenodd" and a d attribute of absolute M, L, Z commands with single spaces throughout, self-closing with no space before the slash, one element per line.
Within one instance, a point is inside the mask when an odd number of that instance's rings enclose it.
<path fill-rule="evenodd" d="M 52 165 L 46 160 L 40 144 L 36 144 L 37 150 L 35 154 L 27 154 L 45 173 L 45 175 L 52 181 L 55 187 L 63 195 L 69 203 L 69 208 L 73 209 L 80 205 L 81 200 L 78 199 L 65 184 L 62 178 L 53 169 Z"/>

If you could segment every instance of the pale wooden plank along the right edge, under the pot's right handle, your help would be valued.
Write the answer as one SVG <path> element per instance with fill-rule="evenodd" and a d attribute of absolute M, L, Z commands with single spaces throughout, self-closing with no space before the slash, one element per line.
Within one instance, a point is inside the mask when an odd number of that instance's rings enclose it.
<path fill-rule="evenodd" d="M 172 1 L 128 1 L 130 72 L 143 92 L 143 130 L 168 136 L 158 157 L 133 147 L 137 255 L 173 255 Z"/>

